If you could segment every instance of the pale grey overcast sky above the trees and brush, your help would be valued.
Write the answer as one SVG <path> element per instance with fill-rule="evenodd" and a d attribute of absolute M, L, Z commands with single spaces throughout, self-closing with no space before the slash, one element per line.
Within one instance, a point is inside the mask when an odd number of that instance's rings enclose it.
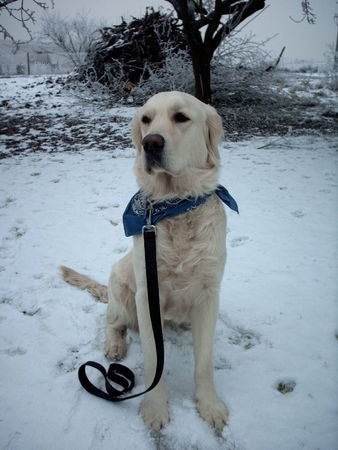
<path fill-rule="evenodd" d="M 54 0 L 55 11 L 65 17 L 76 16 L 79 12 L 88 13 L 88 16 L 104 20 L 107 24 L 119 23 L 121 16 L 139 17 L 143 15 L 146 6 L 164 6 L 170 4 L 164 0 Z M 26 0 L 27 4 L 32 0 Z M 328 45 L 335 46 L 337 25 L 334 14 L 337 12 L 336 0 L 311 0 L 311 5 L 317 16 L 315 25 L 307 22 L 294 23 L 294 19 L 301 18 L 301 0 L 266 0 L 269 5 L 266 11 L 249 23 L 243 33 L 254 33 L 258 41 L 275 36 L 268 44 L 269 50 L 279 54 L 286 46 L 287 59 L 306 59 L 321 61 L 328 51 Z M 32 9 L 34 7 L 32 6 Z M 36 8 L 35 8 L 36 9 Z M 37 11 L 38 15 L 38 11 Z M 250 19 L 249 19 L 250 20 Z M 4 22 L 3 15 L 0 16 Z M 37 25 L 34 30 L 38 29 Z"/>

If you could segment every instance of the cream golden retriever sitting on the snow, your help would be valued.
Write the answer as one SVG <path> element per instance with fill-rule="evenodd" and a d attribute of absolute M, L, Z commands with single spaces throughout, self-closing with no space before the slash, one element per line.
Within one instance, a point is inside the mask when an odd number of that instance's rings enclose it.
<path fill-rule="evenodd" d="M 191 324 L 197 410 L 219 430 L 228 418 L 213 380 L 213 338 L 226 261 L 226 214 L 214 193 L 222 135 L 222 120 L 216 110 L 182 92 L 154 95 L 132 122 L 137 150 L 134 172 L 143 195 L 156 204 L 209 194 L 200 206 L 158 222 L 156 245 L 162 320 Z M 142 235 L 133 240 L 133 249 L 113 267 L 108 287 L 67 267 L 62 266 L 61 271 L 68 283 L 108 302 L 107 357 L 122 359 L 127 351 L 127 328 L 139 329 L 149 386 L 156 370 L 156 351 Z M 153 431 L 168 424 L 163 374 L 156 388 L 145 395 L 140 412 Z"/>

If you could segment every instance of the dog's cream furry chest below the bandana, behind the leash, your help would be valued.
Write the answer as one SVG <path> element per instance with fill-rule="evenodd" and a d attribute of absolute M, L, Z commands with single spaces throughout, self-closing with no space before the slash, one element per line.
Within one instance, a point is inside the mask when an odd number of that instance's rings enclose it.
<path fill-rule="evenodd" d="M 189 321 L 194 304 L 218 296 L 225 264 L 226 216 L 216 196 L 195 210 L 156 225 L 156 259 L 160 300 L 166 320 Z M 143 241 L 134 240 L 136 289 L 145 286 L 140 271 Z"/>

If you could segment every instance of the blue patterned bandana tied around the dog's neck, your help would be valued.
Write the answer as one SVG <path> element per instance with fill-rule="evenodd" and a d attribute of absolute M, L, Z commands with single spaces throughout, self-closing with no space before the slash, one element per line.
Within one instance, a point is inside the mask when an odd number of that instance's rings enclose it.
<path fill-rule="evenodd" d="M 217 189 L 201 197 L 171 198 L 169 200 L 151 202 L 142 191 L 138 191 L 128 203 L 123 214 L 123 226 L 125 235 L 134 236 L 142 233 L 142 228 L 147 224 L 147 206 L 151 205 L 151 224 L 156 225 L 166 217 L 174 217 L 202 205 L 212 194 L 216 194 L 230 209 L 238 211 L 236 200 L 231 197 L 227 189 L 220 184 Z"/>

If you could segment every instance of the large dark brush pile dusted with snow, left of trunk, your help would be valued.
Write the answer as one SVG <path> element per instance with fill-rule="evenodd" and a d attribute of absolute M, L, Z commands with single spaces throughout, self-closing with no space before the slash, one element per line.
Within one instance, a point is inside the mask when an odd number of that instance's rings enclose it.
<path fill-rule="evenodd" d="M 187 49 L 184 34 L 172 15 L 147 8 L 144 17 L 129 23 L 98 30 L 83 65 L 78 68 L 81 81 L 99 82 L 126 90 L 150 76 L 150 68 L 164 64 L 164 48 L 175 52 Z"/>

